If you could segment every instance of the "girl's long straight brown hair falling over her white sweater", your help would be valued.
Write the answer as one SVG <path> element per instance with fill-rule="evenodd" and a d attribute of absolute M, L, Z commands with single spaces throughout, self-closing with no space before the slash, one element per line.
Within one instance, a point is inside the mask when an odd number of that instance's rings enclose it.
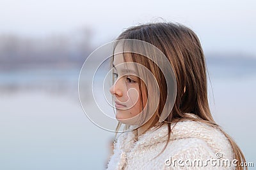
<path fill-rule="evenodd" d="M 230 138 L 212 118 L 207 99 L 207 67 L 205 56 L 195 32 L 181 24 L 143 24 L 125 30 L 118 36 L 117 40 L 119 39 L 138 39 L 156 46 L 166 55 L 173 67 L 177 80 L 177 96 L 170 115 L 164 122 L 159 124 L 159 127 L 163 124 L 168 124 L 168 141 L 164 148 L 166 148 L 170 141 L 172 132 L 171 123 L 182 120 L 200 121 L 220 129 L 220 131 L 225 134 L 232 146 L 234 159 L 238 160 L 237 164 L 246 162 L 239 146 L 237 146 L 234 140 Z M 161 73 L 159 67 L 157 67 L 152 60 L 136 55 L 138 54 L 131 53 L 132 61 L 147 67 L 152 71 L 152 74 L 154 74 L 157 80 L 160 90 L 160 101 L 157 113 L 161 113 L 166 101 L 166 81 L 163 78 L 163 73 Z M 142 91 L 141 89 L 143 89 L 143 87 L 141 87 L 140 83 L 140 93 Z M 141 104 L 141 106 L 143 106 L 143 104 Z M 199 118 L 191 118 L 185 113 L 194 113 Z M 159 115 L 154 118 L 150 127 L 156 125 L 158 120 Z M 116 130 L 118 130 L 119 127 L 120 123 L 116 127 Z M 237 169 L 243 169 L 243 167 L 237 167 Z"/>

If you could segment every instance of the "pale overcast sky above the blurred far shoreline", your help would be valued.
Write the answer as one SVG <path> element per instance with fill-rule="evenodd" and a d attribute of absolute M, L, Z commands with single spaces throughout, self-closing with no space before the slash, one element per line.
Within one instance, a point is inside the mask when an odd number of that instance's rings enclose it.
<path fill-rule="evenodd" d="M 49 36 L 93 29 L 106 43 L 132 25 L 160 20 L 191 27 L 206 52 L 256 56 L 255 1 L 0 0 L 0 34 Z M 161 21 L 161 20 L 160 20 Z"/>

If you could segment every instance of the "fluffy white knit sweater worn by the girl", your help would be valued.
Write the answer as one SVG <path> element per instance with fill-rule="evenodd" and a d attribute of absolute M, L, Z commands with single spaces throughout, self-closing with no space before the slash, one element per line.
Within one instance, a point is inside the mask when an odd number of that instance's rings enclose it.
<path fill-rule="evenodd" d="M 138 141 L 134 141 L 134 132 L 122 133 L 108 169 L 234 169 L 232 148 L 220 130 L 191 120 L 171 127 L 170 142 L 158 157 L 168 139 L 167 124 L 159 129 L 152 127 Z M 228 160 L 230 166 L 225 166 Z"/>

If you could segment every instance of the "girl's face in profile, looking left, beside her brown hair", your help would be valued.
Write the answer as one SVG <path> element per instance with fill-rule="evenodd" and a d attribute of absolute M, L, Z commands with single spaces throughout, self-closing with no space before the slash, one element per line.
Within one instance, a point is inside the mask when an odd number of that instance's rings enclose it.
<path fill-rule="evenodd" d="M 124 62 L 122 53 L 114 56 L 113 77 L 115 81 L 109 91 L 115 101 L 116 119 L 128 125 L 136 124 L 143 109 L 139 87 L 140 78 L 135 74 L 135 66 L 129 61 Z M 145 99 L 145 96 L 143 95 L 142 98 Z"/>

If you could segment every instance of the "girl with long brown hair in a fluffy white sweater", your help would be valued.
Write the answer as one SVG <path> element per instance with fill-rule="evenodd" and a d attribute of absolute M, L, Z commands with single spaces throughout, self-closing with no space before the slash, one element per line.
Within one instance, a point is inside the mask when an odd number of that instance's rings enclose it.
<path fill-rule="evenodd" d="M 148 55 L 156 50 L 116 43 L 115 83 L 109 91 L 119 122 L 116 131 L 125 124 L 126 132 L 115 140 L 108 169 L 243 169 L 243 153 L 212 118 L 205 57 L 196 34 L 184 25 L 156 23 L 131 27 L 117 38 L 122 39 L 155 46 L 170 67 L 163 58 L 158 60 L 161 68 L 141 53 L 124 52 L 127 46 Z M 169 74 L 164 74 L 166 70 Z M 175 91 L 170 92 L 172 78 Z"/>

